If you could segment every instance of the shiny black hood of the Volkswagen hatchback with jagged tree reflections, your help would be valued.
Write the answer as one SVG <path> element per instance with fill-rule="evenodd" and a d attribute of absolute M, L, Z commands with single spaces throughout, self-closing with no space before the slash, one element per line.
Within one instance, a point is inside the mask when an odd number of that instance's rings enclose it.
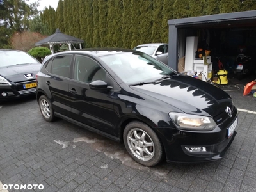
<path fill-rule="evenodd" d="M 232 99 L 226 92 L 189 76 L 179 75 L 156 84 L 131 88 L 180 109 L 175 112 L 216 116 L 223 113 L 227 106 L 232 106 Z"/>

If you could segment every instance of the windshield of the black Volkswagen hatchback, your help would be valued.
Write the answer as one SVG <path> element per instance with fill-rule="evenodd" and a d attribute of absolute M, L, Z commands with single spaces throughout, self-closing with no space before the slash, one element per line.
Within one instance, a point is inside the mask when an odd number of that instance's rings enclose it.
<path fill-rule="evenodd" d="M 122 52 L 101 56 L 116 76 L 126 84 L 149 83 L 177 74 L 175 70 L 143 52 Z"/>

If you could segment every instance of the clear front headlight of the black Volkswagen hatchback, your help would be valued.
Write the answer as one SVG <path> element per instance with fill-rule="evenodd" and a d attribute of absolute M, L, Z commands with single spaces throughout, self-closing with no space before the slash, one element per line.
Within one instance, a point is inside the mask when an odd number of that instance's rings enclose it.
<path fill-rule="evenodd" d="M 216 127 L 214 120 L 208 116 L 174 112 L 170 112 L 169 116 L 178 129 L 211 131 Z"/>

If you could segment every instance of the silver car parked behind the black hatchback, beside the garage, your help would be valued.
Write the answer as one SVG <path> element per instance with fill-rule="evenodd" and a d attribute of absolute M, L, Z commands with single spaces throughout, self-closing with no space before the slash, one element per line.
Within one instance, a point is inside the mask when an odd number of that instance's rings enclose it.
<path fill-rule="evenodd" d="M 156 58 L 157 60 L 168 65 L 168 44 L 142 44 L 134 47 L 134 50 L 145 52 L 153 58 Z"/>

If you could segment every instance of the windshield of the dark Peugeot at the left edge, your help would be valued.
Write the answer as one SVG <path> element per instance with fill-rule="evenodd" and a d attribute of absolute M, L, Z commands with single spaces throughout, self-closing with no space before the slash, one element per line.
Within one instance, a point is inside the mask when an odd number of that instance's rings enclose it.
<path fill-rule="evenodd" d="M 38 63 L 35 58 L 22 51 L 0 51 L 0 67 Z"/>

